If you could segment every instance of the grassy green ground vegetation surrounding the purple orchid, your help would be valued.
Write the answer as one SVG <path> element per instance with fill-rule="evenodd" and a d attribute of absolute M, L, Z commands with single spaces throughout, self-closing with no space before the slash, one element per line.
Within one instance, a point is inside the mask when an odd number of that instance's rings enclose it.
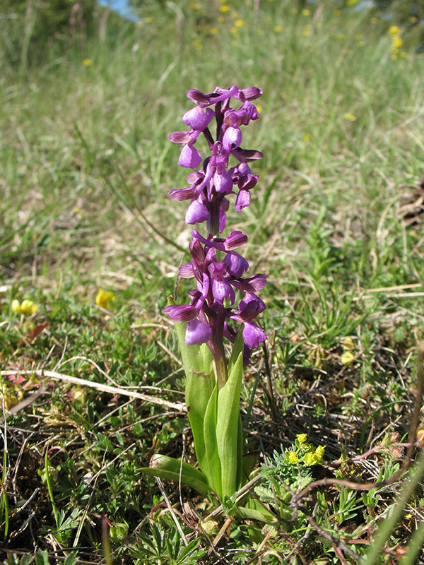
<path fill-rule="evenodd" d="M 91 35 L 52 33 L 42 53 L 30 14 L 0 8 L 6 564 L 344 564 L 373 545 L 410 469 L 290 505 L 312 480 L 399 471 L 420 376 L 419 30 L 344 4 L 151 1 L 136 23 L 99 11 Z M 189 290 L 177 267 L 191 232 L 167 197 L 185 186 L 167 136 L 189 88 L 232 84 L 264 90 L 245 134 L 260 182 L 228 222 L 269 275 L 269 339 L 242 390 L 267 523 L 230 500 L 205 521 L 216 501 L 139 472 L 155 451 L 194 460 L 163 313 Z M 100 289 L 115 299 L 96 304 Z M 25 299 L 37 309 L 20 312 Z M 418 487 L 374 562 L 401 559 L 423 509 Z"/>

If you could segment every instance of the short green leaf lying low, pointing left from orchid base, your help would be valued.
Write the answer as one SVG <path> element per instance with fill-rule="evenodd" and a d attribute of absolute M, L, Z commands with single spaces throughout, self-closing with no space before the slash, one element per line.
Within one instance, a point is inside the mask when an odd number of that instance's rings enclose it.
<path fill-rule="evenodd" d="M 203 472 L 189 465 L 189 463 L 184 463 L 184 461 L 181 463 L 179 459 L 159 453 L 155 453 L 151 458 L 150 467 L 142 467 L 140 470 L 151 477 L 159 477 L 173 482 L 181 481 L 182 484 L 192 487 L 202 496 L 206 496 L 211 490 Z"/>

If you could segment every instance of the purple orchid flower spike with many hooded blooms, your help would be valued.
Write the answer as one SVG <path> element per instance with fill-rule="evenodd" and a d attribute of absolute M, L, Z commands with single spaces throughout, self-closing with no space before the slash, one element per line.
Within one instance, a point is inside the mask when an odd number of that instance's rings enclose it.
<path fill-rule="evenodd" d="M 195 107 L 182 117 L 189 130 L 170 134 L 171 141 L 182 145 L 178 161 L 182 167 L 194 169 L 201 165 L 201 153 L 195 147 L 200 133 L 204 134 L 210 154 L 199 170 L 187 175 L 187 188 L 172 189 L 169 193 L 174 200 L 189 201 L 186 223 L 194 225 L 206 221 L 207 235 L 204 237 L 197 230 L 193 231 L 192 261 L 179 268 L 182 278 L 196 280 L 196 289 L 189 293 L 189 304 L 172 305 L 165 311 L 174 321 L 187 322 L 187 345 L 207 343 L 217 367 L 225 366 L 220 359 L 225 356 L 223 338 L 234 342 L 237 335 L 235 323 L 243 324 L 245 357 L 266 339 L 264 331 L 254 323 L 265 309 L 264 302 L 254 293 L 264 287 L 266 275 L 259 273 L 245 277 L 249 263 L 235 251 L 247 243 L 245 234 L 233 230 L 227 237 L 219 237 L 225 229 L 232 194 L 236 195 L 235 210 L 241 212 L 249 206 L 258 182 L 258 175 L 252 173 L 247 163 L 261 158 L 262 154 L 242 148 L 242 128 L 259 118 L 252 101 L 261 94 L 261 89 L 255 86 L 243 89 L 237 85 L 228 89 L 217 87 L 210 94 L 190 89 L 187 97 Z M 214 118 L 215 139 L 209 129 Z M 230 157 L 237 162 L 232 167 L 229 166 Z M 242 297 L 235 307 L 237 293 Z"/>

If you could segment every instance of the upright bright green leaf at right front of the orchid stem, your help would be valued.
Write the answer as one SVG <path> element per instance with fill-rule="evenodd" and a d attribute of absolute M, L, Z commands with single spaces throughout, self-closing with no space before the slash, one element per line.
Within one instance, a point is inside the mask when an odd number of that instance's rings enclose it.
<path fill-rule="evenodd" d="M 238 336 L 237 336 L 238 337 Z M 237 350 L 240 344 L 235 343 Z M 233 355 L 232 355 L 233 358 Z M 216 441 L 221 463 L 222 494 L 232 496 L 239 486 L 242 469 L 242 454 L 240 445 L 240 390 L 243 376 L 243 352 L 237 361 L 230 362 L 228 381 L 218 391 L 218 411 L 216 425 Z"/>

